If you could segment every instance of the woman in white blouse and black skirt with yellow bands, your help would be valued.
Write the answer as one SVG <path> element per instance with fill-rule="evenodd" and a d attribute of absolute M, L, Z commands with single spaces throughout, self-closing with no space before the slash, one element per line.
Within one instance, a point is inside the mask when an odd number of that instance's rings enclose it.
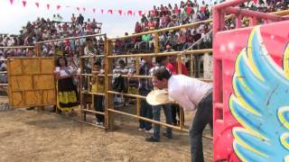
<path fill-rule="evenodd" d="M 61 112 L 73 111 L 73 107 L 79 105 L 77 87 L 72 80 L 76 71 L 68 66 L 65 57 L 58 58 L 56 66 L 54 74 L 57 79 L 57 108 Z"/>

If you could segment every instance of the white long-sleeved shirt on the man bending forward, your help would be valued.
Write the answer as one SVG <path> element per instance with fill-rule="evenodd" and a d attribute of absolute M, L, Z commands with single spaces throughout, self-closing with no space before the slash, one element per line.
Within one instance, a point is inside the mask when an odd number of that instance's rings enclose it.
<path fill-rule="evenodd" d="M 169 96 L 185 110 L 195 110 L 204 95 L 211 91 L 210 83 L 189 76 L 175 75 L 168 80 Z"/>

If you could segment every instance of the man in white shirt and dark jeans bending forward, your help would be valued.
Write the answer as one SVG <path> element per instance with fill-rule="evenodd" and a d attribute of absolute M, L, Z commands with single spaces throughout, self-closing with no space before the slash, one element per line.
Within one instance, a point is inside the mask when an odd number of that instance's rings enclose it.
<path fill-rule="evenodd" d="M 208 123 L 212 129 L 212 85 L 189 76 L 172 76 L 165 67 L 154 70 L 152 81 L 155 87 L 167 89 L 169 97 L 180 103 L 185 110 L 197 111 L 189 131 L 191 161 L 204 161 L 202 131 Z"/>

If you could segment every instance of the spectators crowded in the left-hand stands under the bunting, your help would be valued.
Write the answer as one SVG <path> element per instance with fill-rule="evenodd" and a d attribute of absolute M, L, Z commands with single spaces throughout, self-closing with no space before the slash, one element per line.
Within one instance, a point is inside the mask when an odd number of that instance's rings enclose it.
<path fill-rule="evenodd" d="M 62 22 L 60 14 L 54 14 L 52 19 L 37 18 L 34 22 L 28 22 L 23 26 L 19 35 L 0 34 L 0 47 L 11 46 L 33 46 L 36 42 L 43 40 L 56 40 L 68 37 L 78 37 L 101 32 L 101 23 L 97 23 L 96 19 L 88 19 L 84 17 L 71 15 L 70 22 Z M 103 40 L 96 40 L 96 44 Z M 85 40 L 80 41 L 84 44 Z M 75 53 L 79 50 L 79 42 L 75 40 L 64 40 L 55 43 L 58 51 L 72 51 Z M 0 49 L 1 54 L 7 54 L 14 57 L 25 57 L 27 49 Z M 53 55 L 53 43 L 42 44 L 42 56 Z"/>

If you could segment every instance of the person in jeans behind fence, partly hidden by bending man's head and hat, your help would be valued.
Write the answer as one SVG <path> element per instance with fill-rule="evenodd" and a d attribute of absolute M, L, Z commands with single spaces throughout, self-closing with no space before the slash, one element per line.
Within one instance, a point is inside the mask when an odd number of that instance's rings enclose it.
<path fill-rule="evenodd" d="M 167 56 L 160 56 L 155 58 L 156 65 L 153 67 L 150 71 L 150 74 L 153 75 L 154 71 L 157 70 L 158 68 L 165 68 L 165 65 L 168 64 L 168 57 Z M 169 70 L 168 70 L 169 71 Z M 157 86 L 156 86 L 157 87 Z M 162 87 L 157 87 L 159 89 L 163 89 Z M 160 116 L 161 116 L 161 109 L 163 108 L 163 112 L 165 115 L 165 121 L 167 124 L 172 124 L 172 108 L 171 104 L 162 104 L 162 105 L 156 105 L 153 106 L 153 119 L 154 121 L 160 121 Z M 160 124 L 154 124 L 154 134 L 148 138 L 146 138 L 146 141 L 149 142 L 158 142 L 160 141 L 160 130 L 161 126 Z M 168 139 L 172 139 L 172 128 L 167 127 L 166 132 L 163 133 L 165 137 Z"/>

